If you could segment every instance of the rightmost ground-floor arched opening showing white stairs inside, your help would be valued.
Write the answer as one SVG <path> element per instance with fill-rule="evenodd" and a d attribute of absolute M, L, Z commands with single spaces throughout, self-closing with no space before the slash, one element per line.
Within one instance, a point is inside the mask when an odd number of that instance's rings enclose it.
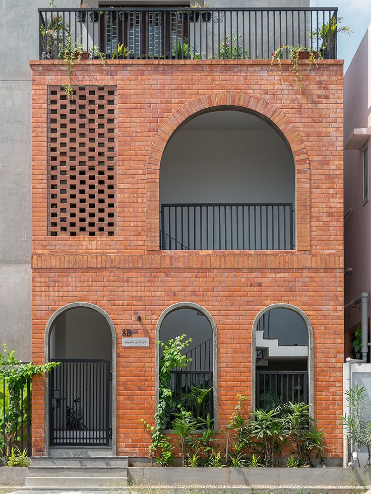
<path fill-rule="evenodd" d="M 269 410 L 288 401 L 313 407 L 313 329 L 298 307 L 273 304 L 255 318 L 252 384 L 253 408 Z"/>

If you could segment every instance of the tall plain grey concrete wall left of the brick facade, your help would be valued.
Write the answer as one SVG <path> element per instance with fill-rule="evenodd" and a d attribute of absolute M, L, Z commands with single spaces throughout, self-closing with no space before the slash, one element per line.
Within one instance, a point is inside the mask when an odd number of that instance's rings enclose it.
<path fill-rule="evenodd" d="M 58 0 L 73 7 L 76 0 Z M 44 0 L 1 0 L 0 344 L 31 358 L 31 70 Z"/>

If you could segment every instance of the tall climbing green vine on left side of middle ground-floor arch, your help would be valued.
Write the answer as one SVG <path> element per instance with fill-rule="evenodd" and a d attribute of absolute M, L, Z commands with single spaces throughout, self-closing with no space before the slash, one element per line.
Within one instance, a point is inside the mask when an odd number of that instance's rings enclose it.
<path fill-rule="evenodd" d="M 182 350 L 189 346 L 192 339 L 183 341 L 184 338 L 185 334 L 182 334 L 181 336 L 176 336 L 174 339 L 170 339 L 166 343 L 162 341 L 157 342 L 162 348 L 162 355 L 159 365 L 159 401 L 154 416 L 154 426 L 150 426 L 146 420 L 141 418 L 142 424 L 151 434 L 150 455 L 157 454 L 157 456 L 160 456 L 164 445 L 166 445 L 165 450 L 168 450 L 163 431 L 166 429 L 171 412 L 174 410 L 175 412 L 186 413 L 182 405 L 174 400 L 170 387 L 171 371 L 187 367 L 191 362 L 191 359 L 187 359 L 187 356 L 182 354 Z"/>

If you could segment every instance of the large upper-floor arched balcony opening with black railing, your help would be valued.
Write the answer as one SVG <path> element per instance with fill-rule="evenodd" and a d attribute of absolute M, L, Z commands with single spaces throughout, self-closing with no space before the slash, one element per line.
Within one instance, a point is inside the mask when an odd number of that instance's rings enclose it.
<path fill-rule="evenodd" d="M 160 165 L 162 250 L 295 249 L 295 165 L 278 128 L 242 108 L 190 117 Z"/>

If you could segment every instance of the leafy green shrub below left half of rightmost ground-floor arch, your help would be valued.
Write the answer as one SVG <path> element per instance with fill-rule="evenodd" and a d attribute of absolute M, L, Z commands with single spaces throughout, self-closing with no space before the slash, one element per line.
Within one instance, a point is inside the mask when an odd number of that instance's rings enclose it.
<path fill-rule="evenodd" d="M 261 448 L 265 465 L 273 467 L 275 456 L 280 454 L 285 443 L 286 420 L 282 416 L 282 409 L 280 406 L 269 411 L 258 409 L 254 410 L 252 415 L 253 434 L 259 441 L 256 446 Z"/>

